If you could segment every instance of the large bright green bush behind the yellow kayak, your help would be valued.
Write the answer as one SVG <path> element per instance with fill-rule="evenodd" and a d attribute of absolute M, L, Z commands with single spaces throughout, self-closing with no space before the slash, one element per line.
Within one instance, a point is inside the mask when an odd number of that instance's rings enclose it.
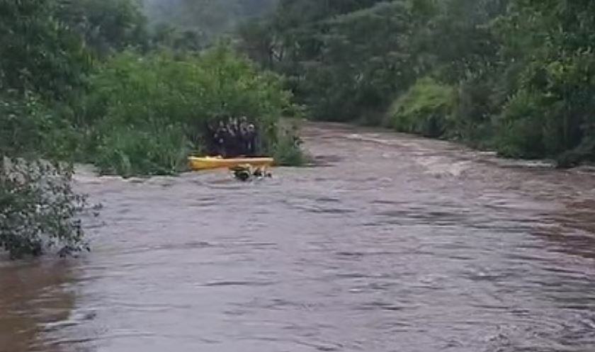
<path fill-rule="evenodd" d="M 84 120 L 103 171 L 169 174 L 204 147 L 205 125 L 222 114 L 247 116 L 259 127 L 261 151 L 270 150 L 291 105 L 278 76 L 219 45 L 202 55 L 113 57 L 91 79 Z"/>

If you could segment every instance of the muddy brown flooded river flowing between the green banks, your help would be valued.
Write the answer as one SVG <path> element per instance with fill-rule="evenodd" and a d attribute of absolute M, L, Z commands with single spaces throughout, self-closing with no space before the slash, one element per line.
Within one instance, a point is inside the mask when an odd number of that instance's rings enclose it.
<path fill-rule="evenodd" d="M 0 263 L 0 352 L 595 351 L 595 174 L 306 125 L 317 166 L 77 176 L 93 251 Z"/>

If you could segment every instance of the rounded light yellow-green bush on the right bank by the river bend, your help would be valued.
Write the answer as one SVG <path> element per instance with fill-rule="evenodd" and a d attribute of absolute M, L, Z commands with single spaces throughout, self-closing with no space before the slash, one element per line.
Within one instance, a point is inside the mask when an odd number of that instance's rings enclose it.
<path fill-rule="evenodd" d="M 441 137 L 451 124 L 454 90 L 426 77 L 392 104 L 386 124 L 399 132 Z"/>

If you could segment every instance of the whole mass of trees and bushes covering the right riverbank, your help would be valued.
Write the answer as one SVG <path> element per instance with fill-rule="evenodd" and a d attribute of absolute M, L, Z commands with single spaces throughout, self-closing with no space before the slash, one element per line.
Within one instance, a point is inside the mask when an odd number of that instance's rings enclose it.
<path fill-rule="evenodd" d="M 595 160 L 595 3 L 280 0 L 239 47 L 312 117 Z M 383 116 L 383 117 L 382 117 Z"/>

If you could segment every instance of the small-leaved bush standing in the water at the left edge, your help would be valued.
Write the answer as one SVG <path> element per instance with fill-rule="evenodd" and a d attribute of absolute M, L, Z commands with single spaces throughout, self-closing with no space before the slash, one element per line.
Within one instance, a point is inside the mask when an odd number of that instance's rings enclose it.
<path fill-rule="evenodd" d="M 71 188 L 72 168 L 3 158 L 0 168 L 0 248 L 16 259 L 62 246 L 87 248 L 77 214 L 85 199 Z"/>

